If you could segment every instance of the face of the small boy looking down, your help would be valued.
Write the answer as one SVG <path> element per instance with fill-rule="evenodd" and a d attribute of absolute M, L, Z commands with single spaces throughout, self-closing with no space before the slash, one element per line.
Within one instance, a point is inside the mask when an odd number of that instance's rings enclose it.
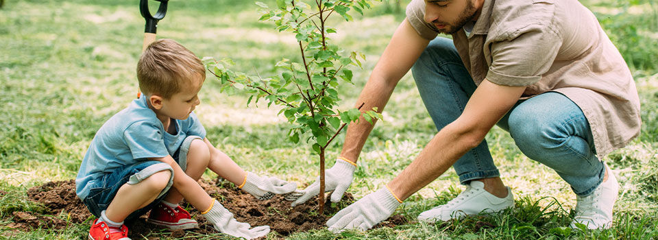
<path fill-rule="evenodd" d="M 187 119 L 194 108 L 201 104 L 198 94 L 203 85 L 204 80 L 201 77 L 193 80 L 192 84 L 184 84 L 179 93 L 174 94 L 169 99 L 162 99 L 158 114 L 172 119 Z"/>

